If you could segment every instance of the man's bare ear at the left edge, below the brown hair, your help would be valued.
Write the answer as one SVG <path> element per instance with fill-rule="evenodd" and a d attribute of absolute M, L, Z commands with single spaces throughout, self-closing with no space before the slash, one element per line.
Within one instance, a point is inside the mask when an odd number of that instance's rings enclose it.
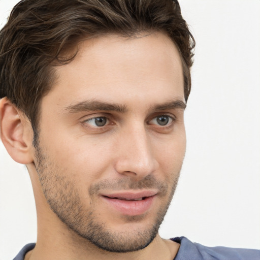
<path fill-rule="evenodd" d="M 29 120 L 7 98 L 0 100 L 0 137 L 10 156 L 20 164 L 33 161 Z"/>

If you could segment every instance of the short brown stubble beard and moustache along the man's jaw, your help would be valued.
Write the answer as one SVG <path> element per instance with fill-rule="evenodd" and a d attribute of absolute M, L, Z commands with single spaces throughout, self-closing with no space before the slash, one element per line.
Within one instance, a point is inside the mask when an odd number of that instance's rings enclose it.
<path fill-rule="evenodd" d="M 39 144 L 39 143 L 38 143 Z M 81 238 L 86 239 L 100 249 L 110 252 L 133 252 L 147 247 L 158 234 L 159 226 L 163 222 L 165 214 L 170 206 L 173 194 L 175 192 L 179 173 L 173 175 L 172 187 L 167 183 L 158 182 L 153 176 L 148 175 L 139 182 L 133 182 L 130 178 L 123 181 L 111 182 L 105 180 L 98 184 L 90 186 L 88 195 L 90 198 L 98 193 L 100 189 L 116 188 L 121 189 L 141 189 L 157 188 L 160 190 L 160 196 L 168 197 L 165 204 L 161 205 L 157 214 L 145 230 L 133 230 L 126 232 L 116 232 L 110 230 L 102 218 L 98 219 L 91 202 L 89 207 L 82 202 L 77 185 L 67 175 L 59 175 L 62 169 L 54 165 L 52 161 L 42 153 L 39 145 L 35 146 L 36 170 L 39 176 L 42 190 L 51 210 L 57 217 L 65 223 L 71 231 L 75 232 Z M 135 223 L 143 216 L 125 216 L 126 223 Z"/>

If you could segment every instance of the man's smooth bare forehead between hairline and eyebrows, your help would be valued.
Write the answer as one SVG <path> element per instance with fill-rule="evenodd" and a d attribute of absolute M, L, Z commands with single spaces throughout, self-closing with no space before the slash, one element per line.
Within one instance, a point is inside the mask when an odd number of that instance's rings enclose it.
<path fill-rule="evenodd" d="M 169 99 L 184 100 L 180 54 L 160 32 L 81 41 L 76 58 L 55 70 L 57 81 L 45 98 L 53 95 L 64 105 L 97 98 L 127 103 L 134 95 L 142 102 L 165 91 Z"/>

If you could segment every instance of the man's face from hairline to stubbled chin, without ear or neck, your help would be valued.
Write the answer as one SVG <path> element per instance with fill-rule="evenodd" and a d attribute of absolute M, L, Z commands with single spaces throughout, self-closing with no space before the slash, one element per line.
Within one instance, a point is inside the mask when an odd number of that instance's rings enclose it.
<path fill-rule="evenodd" d="M 185 153 L 180 55 L 160 33 L 80 43 L 43 98 L 35 165 L 56 216 L 108 251 L 146 247 Z"/>

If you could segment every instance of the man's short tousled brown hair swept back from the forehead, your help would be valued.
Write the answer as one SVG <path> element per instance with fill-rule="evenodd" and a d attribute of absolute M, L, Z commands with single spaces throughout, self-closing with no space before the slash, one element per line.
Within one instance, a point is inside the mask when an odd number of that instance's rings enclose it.
<path fill-rule="evenodd" d="M 187 101 L 194 39 L 177 0 L 23 0 L 0 31 L 0 98 L 5 96 L 31 121 L 37 132 L 41 99 L 51 89 L 53 64 L 79 39 L 103 34 L 135 37 L 166 33 L 179 49 Z"/>

